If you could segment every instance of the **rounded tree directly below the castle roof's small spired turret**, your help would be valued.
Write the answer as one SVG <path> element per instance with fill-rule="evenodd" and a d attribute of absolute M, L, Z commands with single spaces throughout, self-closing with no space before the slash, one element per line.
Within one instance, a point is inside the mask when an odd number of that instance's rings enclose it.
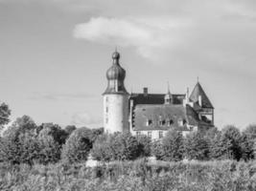
<path fill-rule="evenodd" d="M 163 160 L 178 161 L 183 159 L 183 137 L 178 131 L 171 130 L 162 140 Z"/>

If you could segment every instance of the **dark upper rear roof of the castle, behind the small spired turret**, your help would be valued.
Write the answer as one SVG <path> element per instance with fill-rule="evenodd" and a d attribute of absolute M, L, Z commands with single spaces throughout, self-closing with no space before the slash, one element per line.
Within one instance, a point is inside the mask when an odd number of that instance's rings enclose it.
<path fill-rule="evenodd" d="M 133 100 L 134 105 L 137 104 L 164 104 L 166 94 L 131 94 L 129 99 Z M 182 104 L 186 95 L 172 95 L 174 104 Z"/>

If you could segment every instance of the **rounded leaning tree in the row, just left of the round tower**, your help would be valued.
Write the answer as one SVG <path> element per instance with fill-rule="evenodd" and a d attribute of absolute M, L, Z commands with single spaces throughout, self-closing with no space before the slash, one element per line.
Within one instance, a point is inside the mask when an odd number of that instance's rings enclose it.
<path fill-rule="evenodd" d="M 92 148 L 91 134 L 85 127 L 76 129 L 64 144 L 61 158 L 71 163 L 86 161 Z"/>

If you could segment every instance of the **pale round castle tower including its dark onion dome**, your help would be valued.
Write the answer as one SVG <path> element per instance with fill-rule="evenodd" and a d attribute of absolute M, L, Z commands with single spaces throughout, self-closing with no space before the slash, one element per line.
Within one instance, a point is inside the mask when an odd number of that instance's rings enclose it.
<path fill-rule="evenodd" d="M 120 66 L 120 53 L 112 54 L 113 64 L 106 72 L 107 87 L 104 96 L 105 133 L 128 131 L 128 92 L 124 80 L 126 71 Z"/>

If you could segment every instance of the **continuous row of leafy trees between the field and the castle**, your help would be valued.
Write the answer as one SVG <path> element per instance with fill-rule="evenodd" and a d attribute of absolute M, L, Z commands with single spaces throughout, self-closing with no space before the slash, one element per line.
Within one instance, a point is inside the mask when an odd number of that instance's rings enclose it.
<path fill-rule="evenodd" d="M 9 122 L 10 109 L 0 105 L 0 125 Z M 36 125 L 28 116 L 18 117 L 0 137 L 0 162 L 12 164 L 83 162 L 91 154 L 101 161 L 133 160 L 154 156 L 156 159 L 178 161 L 182 159 L 251 160 L 256 158 L 256 125 L 242 132 L 234 125 L 222 130 L 192 132 L 183 137 L 170 130 L 161 140 L 147 136 L 133 137 L 129 133 L 104 134 L 103 128 L 62 129 L 58 124 Z"/>

